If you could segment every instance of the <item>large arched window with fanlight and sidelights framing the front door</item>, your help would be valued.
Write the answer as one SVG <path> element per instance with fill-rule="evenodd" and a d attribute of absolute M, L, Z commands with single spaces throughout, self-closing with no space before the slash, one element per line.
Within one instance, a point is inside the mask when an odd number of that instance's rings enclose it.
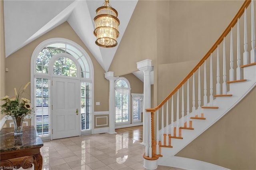
<path fill-rule="evenodd" d="M 40 43 L 31 58 L 31 99 L 36 109 L 32 125 L 43 140 L 52 138 L 52 81 L 76 79 L 79 82 L 78 108 L 80 115 L 79 134 L 91 133 L 93 65 L 89 55 L 78 44 L 64 39 L 52 38 Z M 66 78 L 65 78 L 66 77 Z"/>

